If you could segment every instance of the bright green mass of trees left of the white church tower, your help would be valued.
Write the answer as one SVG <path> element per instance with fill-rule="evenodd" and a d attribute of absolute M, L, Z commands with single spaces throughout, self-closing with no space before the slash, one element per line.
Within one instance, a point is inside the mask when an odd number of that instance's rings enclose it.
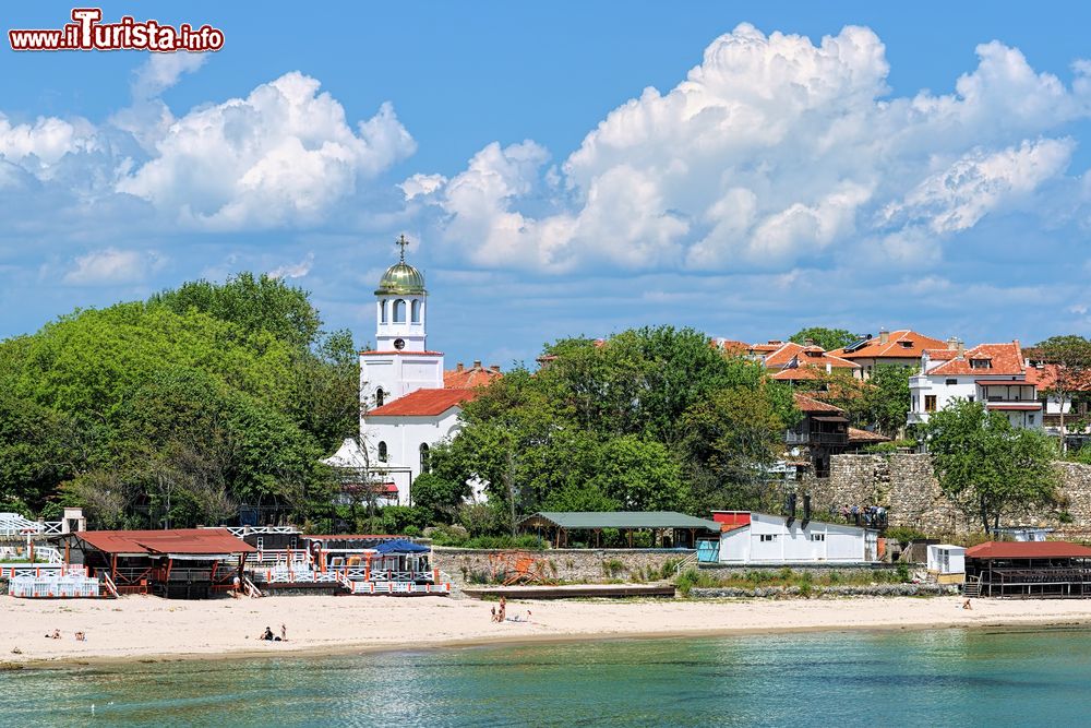
<path fill-rule="evenodd" d="M 328 510 L 317 461 L 357 430 L 347 332 L 275 278 L 199 282 L 0 342 L 0 510 L 109 526 Z"/>

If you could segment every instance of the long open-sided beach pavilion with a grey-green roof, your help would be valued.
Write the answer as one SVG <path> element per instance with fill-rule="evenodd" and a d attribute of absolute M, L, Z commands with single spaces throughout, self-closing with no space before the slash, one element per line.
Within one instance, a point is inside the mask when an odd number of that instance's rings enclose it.
<path fill-rule="evenodd" d="M 551 542 L 553 548 L 568 546 L 573 533 L 588 535 L 588 546 L 599 547 L 602 532 L 611 528 L 625 535 L 633 548 L 633 535 L 650 532 L 652 544 L 668 539 L 674 548 L 694 549 L 697 539 L 710 532 L 719 532 L 719 524 L 673 511 L 541 511 L 519 522 L 527 534 L 537 534 Z"/>

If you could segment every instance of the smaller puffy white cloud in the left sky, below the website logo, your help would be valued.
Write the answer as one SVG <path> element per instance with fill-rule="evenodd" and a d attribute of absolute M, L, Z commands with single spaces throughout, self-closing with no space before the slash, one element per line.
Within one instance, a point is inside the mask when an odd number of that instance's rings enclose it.
<path fill-rule="evenodd" d="M 389 104 L 352 129 L 316 80 L 293 72 L 175 120 L 117 189 L 197 227 L 315 223 L 415 148 Z"/>

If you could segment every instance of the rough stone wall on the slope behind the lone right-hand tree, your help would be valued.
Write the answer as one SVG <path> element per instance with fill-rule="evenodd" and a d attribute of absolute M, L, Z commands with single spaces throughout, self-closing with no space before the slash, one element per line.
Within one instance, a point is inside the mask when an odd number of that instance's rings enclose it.
<path fill-rule="evenodd" d="M 1067 538 L 1091 536 L 1091 466 L 1056 463 L 1059 474 L 1058 506 L 1014 513 L 1006 525 L 1048 526 Z M 891 526 L 908 526 L 928 534 L 961 535 L 981 530 L 939 490 L 926 454 L 835 455 L 830 477 L 806 484 L 815 517 L 841 505 L 883 505 Z M 1066 522 L 1063 522 L 1062 514 Z M 1068 521 L 1070 518 L 1070 521 Z M 1005 524 L 1002 524 L 1005 525 Z"/>

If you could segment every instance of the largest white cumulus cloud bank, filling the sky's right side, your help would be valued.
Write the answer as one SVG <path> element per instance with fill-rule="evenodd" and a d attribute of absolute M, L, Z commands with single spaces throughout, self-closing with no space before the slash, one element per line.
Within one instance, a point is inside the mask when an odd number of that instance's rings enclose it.
<path fill-rule="evenodd" d="M 1018 49 L 976 50 L 954 93 L 890 97 L 868 28 L 815 44 L 743 24 L 559 167 L 532 141 L 493 143 L 428 194 L 442 238 L 493 266 L 732 271 L 858 249 L 935 262 L 946 238 L 1062 179 L 1075 145 L 1048 134 L 1091 110 L 1088 67 L 1068 86 Z"/>

